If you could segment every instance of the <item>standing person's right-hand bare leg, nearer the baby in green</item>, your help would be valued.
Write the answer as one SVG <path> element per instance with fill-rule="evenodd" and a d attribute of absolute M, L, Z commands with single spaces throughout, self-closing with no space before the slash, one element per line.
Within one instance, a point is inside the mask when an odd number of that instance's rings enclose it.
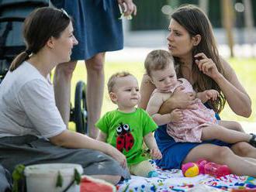
<path fill-rule="evenodd" d="M 98 53 L 85 61 L 87 68 L 87 91 L 86 103 L 88 108 L 88 129 L 89 135 L 96 139 L 99 130 L 95 128 L 98 121 L 103 101 L 104 91 L 104 61 L 105 53 Z"/>

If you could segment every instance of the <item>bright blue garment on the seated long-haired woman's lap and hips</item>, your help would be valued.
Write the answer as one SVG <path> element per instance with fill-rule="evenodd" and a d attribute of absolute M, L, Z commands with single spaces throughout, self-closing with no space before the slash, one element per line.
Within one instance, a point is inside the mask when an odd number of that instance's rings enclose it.
<path fill-rule="evenodd" d="M 154 137 L 157 141 L 157 146 L 160 149 L 163 158 L 155 160 L 157 166 L 163 169 L 181 169 L 182 162 L 189 154 L 189 151 L 196 146 L 210 143 L 216 146 L 228 146 L 231 144 L 220 140 L 209 140 L 204 142 L 175 142 L 174 139 L 166 132 L 166 125 L 161 125 L 154 132 Z"/>

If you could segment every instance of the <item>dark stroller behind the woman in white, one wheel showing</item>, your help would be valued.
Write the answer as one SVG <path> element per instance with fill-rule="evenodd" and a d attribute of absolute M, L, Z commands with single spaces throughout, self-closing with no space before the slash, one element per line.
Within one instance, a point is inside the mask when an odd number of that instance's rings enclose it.
<path fill-rule="evenodd" d="M 0 0 L 0 84 L 12 60 L 26 50 L 22 38 L 22 23 L 26 16 L 33 9 L 49 5 L 49 0 Z M 78 81 L 70 121 L 75 123 L 77 132 L 88 134 L 85 90 L 85 83 Z"/>

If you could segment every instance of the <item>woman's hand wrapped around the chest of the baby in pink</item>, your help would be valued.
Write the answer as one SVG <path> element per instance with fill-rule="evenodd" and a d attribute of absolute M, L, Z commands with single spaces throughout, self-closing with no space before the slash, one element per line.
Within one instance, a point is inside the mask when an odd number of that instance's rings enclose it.
<path fill-rule="evenodd" d="M 160 114 L 167 114 L 173 111 L 175 108 L 180 109 L 197 109 L 195 105 L 195 93 L 184 93 L 182 90 L 184 87 L 179 86 L 175 89 L 171 98 L 167 101 L 164 101 L 164 104 L 161 105 L 159 110 Z"/>

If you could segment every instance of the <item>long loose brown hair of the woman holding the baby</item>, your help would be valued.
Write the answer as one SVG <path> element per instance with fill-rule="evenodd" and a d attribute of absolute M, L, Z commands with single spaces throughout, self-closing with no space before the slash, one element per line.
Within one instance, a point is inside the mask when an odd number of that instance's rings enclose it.
<path fill-rule="evenodd" d="M 197 53 L 205 53 L 206 57 L 212 59 L 216 64 L 217 69 L 221 74 L 223 74 L 223 64 L 220 62 L 219 52 L 213 36 L 213 27 L 205 13 L 194 5 L 183 5 L 171 15 L 171 18 L 175 19 L 176 22 L 183 26 L 189 32 L 189 36 L 201 36 L 200 43 L 197 46 L 194 46 L 192 50 L 192 56 L 195 56 Z M 174 58 L 177 76 L 182 77 L 182 63 L 178 57 Z M 192 77 L 195 80 L 195 84 L 193 84 L 195 91 L 200 92 L 207 89 L 215 89 L 216 91 L 219 91 L 220 98 L 218 98 L 216 101 L 208 101 L 208 104 L 211 108 L 213 108 L 214 111 L 218 113 L 222 111 L 226 98 L 221 92 L 219 85 L 216 84 L 212 78 L 208 77 L 206 74 L 203 74 L 199 70 L 195 64 L 194 58 L 192 64 Z"/>

